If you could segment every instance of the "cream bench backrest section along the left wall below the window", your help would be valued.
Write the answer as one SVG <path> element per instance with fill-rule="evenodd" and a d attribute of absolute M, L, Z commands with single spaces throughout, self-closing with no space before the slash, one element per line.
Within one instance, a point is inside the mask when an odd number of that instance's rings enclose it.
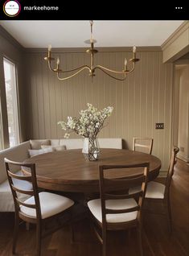
<path fill-rule="evenodd" d="M 29 157 L 28 149 L 31 149 L 31 144 L 29 141 L 23 142 L 18 146 L 10 147 L 3 151 L 0 151 L 0 184 L 3 181 L 7 180 L 4 158 L 17 161 L 17 162 L 23 162 Z M 15 167 L 13 171 L 16 172 L 18 171 L 18 169 L 19 169 L 18 167 Z"/>

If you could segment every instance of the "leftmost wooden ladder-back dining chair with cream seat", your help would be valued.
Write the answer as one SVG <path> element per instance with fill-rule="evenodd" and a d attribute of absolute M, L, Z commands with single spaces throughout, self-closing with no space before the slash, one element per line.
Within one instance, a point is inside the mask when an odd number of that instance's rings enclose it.
<path fill-rule="evenodd" d="M 51 192 L 39 192 L 35 163 L 18 163 L 9 159 L 4 159 L 4 161 L 15 208 L 12 253 L 15 254 L 18 240 L 18 225 L 19 221 L 22 220 L 36 225 L 36 254 L 39 256 L 41 254 L 42 225 L 46 221 L 62 217 L 63 213 L 69 214 L 74 201 L 68 197 Z M 20 166 L 21 170 L 30 170 L 31 175 L 14 174 L 12 170 L 15 166 Z M 28 182 L 32 184 L 31 190 L 28 190 L 25 186 Z M 19 197 L 20 193 L 28 195 L 27 200 L 21 200 Z"/>

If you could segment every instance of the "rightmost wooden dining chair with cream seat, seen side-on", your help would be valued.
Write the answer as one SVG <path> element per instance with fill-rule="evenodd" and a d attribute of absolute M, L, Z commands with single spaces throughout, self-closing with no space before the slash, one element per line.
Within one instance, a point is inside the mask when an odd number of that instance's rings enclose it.
<path fill-rule="evenodd" d="M 156 201 L 156 202 L 162 202 L 163 209 L 165 209 L 164 214 L 166 215 L 167 219 L 167 224 L 168 224 L 168 229 L 171 233 L 172 231 L 172 218 L 171 218 L 171 203 L 170 203 L 170 185 L 171 185 L 171 179 L 172 176 L 174 175 L 174 166 L 176 163 L 176 155 L 179 152 L 179 147 L 173 147 L 171 151 L 171 160 L 166 176 L 166 184 L 161 184 L 155 181 L 150 181 L 147 184 L 146 188 L 146 196 L 145 196 L 145 201 L 150 200 L 150 201 Z M 140 191 L 140 188 L 130 188 L 129 189 L 129 194 L 133 194 Z M 156 213 L 152 212 L 151 213 Z"/>

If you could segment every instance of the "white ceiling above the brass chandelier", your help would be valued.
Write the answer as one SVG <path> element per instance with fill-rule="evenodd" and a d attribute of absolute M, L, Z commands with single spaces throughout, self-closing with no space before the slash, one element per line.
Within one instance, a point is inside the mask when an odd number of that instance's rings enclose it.
<path fill-rule="evenodd" d="M 183 20 L 95 20 L 94 39 L 97 47 L 160 46 Z M 0 21 L 23 47 L 88 47 L 90 24 L 78 21 Z"/>

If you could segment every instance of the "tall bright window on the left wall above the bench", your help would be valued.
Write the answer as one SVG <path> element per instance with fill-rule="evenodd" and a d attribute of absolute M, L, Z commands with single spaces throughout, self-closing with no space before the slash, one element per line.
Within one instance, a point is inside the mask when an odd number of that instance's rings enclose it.
<path fill-rule="evenodd" d="M 9 142 L 10 147 L 13 147 L 19 143 L 16 67 L 14 63 L 6 58 L 3 58 L 3 65 L 6 85 Z"/>

